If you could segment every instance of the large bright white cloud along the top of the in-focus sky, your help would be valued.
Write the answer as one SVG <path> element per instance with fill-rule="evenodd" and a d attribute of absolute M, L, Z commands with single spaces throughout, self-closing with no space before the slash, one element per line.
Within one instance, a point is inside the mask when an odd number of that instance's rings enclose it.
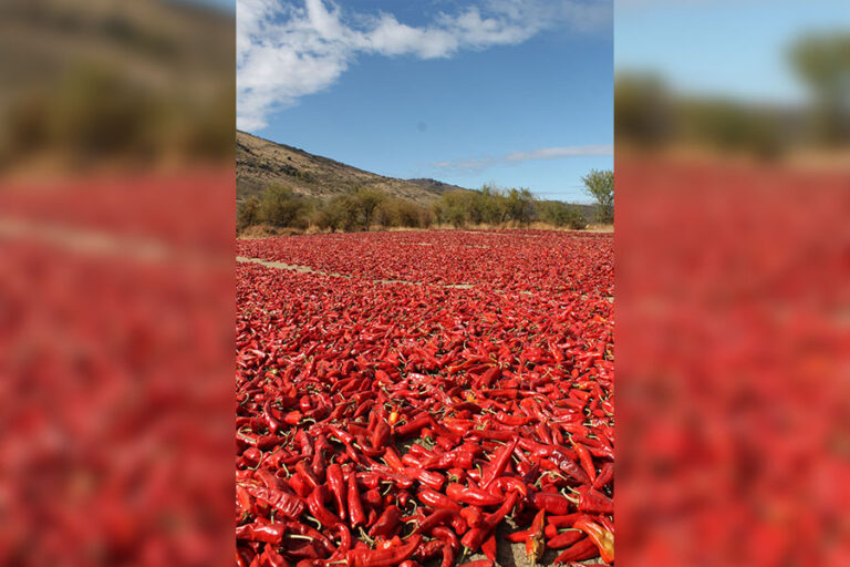
<path fill-rule="evenodd" d="M 238 0 L 237 126 L 265 127 L 276 110 L 331 86 L 359 53 L 447 58 L 521 43 L 545 29 L 599 29 L 611 12 L 611 0 L 480 0 L 413 27 L 390 13 L 344 13 L 325 0 Z"/>

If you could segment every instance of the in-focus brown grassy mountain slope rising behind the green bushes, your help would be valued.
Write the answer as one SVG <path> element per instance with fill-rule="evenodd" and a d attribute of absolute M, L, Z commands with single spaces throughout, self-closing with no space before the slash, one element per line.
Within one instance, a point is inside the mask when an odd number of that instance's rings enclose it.
<path fill-rule="evenodd" d="M 463 189 L 434 179 L 396 179 L 277 144 L 246 132 L 236 132 L 236 196 L 245 200 L 265 187 L 281 183 L 301 195 L 329 198 L 357 187 L 383 190 L 421 205 L 443 193 Z"/>

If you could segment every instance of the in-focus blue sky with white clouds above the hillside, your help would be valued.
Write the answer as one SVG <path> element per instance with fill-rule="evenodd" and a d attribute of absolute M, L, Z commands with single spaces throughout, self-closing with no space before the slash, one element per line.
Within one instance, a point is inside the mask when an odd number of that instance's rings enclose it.
<path fill-rule="evenodd" d="M 588 202 L 613 166 L 605 0 L 238 0 L 242 130 L 393 177 Z"/>

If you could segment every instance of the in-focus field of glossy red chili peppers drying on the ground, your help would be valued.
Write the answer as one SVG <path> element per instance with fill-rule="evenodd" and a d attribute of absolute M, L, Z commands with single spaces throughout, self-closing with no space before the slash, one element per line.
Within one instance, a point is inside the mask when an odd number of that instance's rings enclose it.
<path fill-rule="evenodd" d="M 612 244 L 237 243 L 237 564 L 613 564 Z"/>

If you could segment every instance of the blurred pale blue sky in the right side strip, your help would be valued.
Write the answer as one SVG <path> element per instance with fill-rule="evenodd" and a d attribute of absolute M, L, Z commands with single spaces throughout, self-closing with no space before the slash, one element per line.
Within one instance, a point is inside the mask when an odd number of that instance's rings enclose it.
<path fill-rule="evenodd" d="M 797 103 L 807 93 L 788 45 L 849 27 L 847 0 L 622 0 L 614 59 L 618 72 L 653 71 L 682 92 Z"/>

